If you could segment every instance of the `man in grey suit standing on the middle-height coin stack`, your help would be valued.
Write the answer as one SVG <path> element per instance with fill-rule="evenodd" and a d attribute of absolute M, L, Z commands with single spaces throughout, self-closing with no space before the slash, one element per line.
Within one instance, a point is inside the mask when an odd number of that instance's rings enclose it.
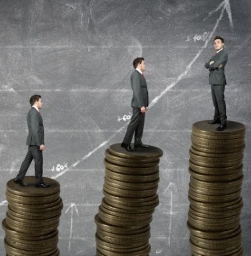
<path fill-rule="evenodd" d="M 143 72 L 145 71 L 145 59 L 136 58 L 133 61 L 133 67 L 135 71 L 131 76 L 131 86 L 133 90 L 132 108 L 133 115 L 128 125 L 125 138 L 121 144 L 121 147 L 127 151 L 134 151 L 137 148 L 148 148 L 148 145 L 142 143 L 145 113 L 149 103 L 147 81 L 144 78 Z M 131 142 L 134 135 L 134 149 L 131 147 Z"/>

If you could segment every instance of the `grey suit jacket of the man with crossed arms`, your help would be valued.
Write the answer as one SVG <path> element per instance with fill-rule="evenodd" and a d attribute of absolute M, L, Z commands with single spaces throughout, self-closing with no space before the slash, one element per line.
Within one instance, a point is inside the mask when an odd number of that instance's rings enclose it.
<path fill-rule="evenodd" d="M 210 62 L 214 61 L 212 65 Z M 225 77 L 225 66 L 228 62 L 228 54 L 223 49 L 218 54 L 214 55 L 209 62 L 205 63 L 205 68 L 209 69 L 209 84 L 225 85 L 227 84 Z M 219 68 L 223 65 L 222 68 Z"/>

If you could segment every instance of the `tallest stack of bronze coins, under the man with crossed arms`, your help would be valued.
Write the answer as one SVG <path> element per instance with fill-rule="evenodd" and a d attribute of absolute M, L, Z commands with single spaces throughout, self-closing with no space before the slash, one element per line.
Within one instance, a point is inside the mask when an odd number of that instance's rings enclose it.
<path fill-rule="evenodd" d="M 190 148 L 189 214 L 192 255 L 243 255 L 245 126 L 228 121 L 215 131 L 207 121 L 193 124 Z"/>

